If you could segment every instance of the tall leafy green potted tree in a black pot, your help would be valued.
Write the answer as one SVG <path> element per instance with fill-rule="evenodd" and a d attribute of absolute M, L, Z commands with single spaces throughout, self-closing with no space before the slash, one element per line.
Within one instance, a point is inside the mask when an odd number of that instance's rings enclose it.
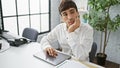
<path fill-rule="evenodd" d="M 120 0 L 89 0 L 89 13 L 87 14 L 88 23 L 97 31 L 103 33 L 101 38 L 100 52 L 97 54 L 97 63 L 105 65 L 105 48 L 107 46 L 111 31 L 116 31 L 120 26 L 120 15 L 113 19 L 110 17 L 110 7 L 120 5 Z M 84 18 L 84 17 L 83 17 Z M 102 45 L 103 41 L 103 45 Z"/>

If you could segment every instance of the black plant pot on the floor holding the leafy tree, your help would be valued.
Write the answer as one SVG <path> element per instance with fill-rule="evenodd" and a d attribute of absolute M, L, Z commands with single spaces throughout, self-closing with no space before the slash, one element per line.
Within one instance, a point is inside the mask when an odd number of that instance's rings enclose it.
<path fill-rule="evenodd" d="M 106 62 L 107 55 L 103 53 L 97 53 L 97 64 L 104 66 Z"/>

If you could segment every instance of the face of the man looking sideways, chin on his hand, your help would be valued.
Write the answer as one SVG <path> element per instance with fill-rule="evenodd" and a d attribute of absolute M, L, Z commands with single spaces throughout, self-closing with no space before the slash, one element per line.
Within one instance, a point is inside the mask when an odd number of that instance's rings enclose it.
<path fill-rule="evenodd" d="M 67 28 L 75 22 L 75 19 L 79 16 L 79 13 L 75 8 L 69 8 L 61 12 L 62 20 L 66 23 Z"/>

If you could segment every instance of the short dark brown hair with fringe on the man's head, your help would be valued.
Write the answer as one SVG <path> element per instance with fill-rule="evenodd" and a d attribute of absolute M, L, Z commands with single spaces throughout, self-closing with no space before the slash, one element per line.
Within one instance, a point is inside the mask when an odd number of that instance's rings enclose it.
<path fill-rule="evenodd" d="M 73 2 L 72 0 L 65 0 L 60 3 L 59 13 L 61 14 L 62 11 L 65 11 L 69 8 L 75 8 L 76 11 L 78 11 L 75 2 Z"/>

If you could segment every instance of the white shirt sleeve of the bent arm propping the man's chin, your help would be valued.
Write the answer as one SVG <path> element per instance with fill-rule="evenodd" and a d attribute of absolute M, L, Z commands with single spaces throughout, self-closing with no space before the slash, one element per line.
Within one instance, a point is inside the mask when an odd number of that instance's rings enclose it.
<path fill-rule="evenodd" d="M 89 52 L 93 43 L 93 29 L 87 29 L 82 33 L 82 36 L 79 36 L 79 29 L 76 29 L 74 32 L 68 33 L 67 42 L 71 47 L 72 54 L 79 60 L 88 59 Z M 82 37 L 82 38 L 80 38 Z M 77 40 L 80 38 L 81 40 Z"/>

